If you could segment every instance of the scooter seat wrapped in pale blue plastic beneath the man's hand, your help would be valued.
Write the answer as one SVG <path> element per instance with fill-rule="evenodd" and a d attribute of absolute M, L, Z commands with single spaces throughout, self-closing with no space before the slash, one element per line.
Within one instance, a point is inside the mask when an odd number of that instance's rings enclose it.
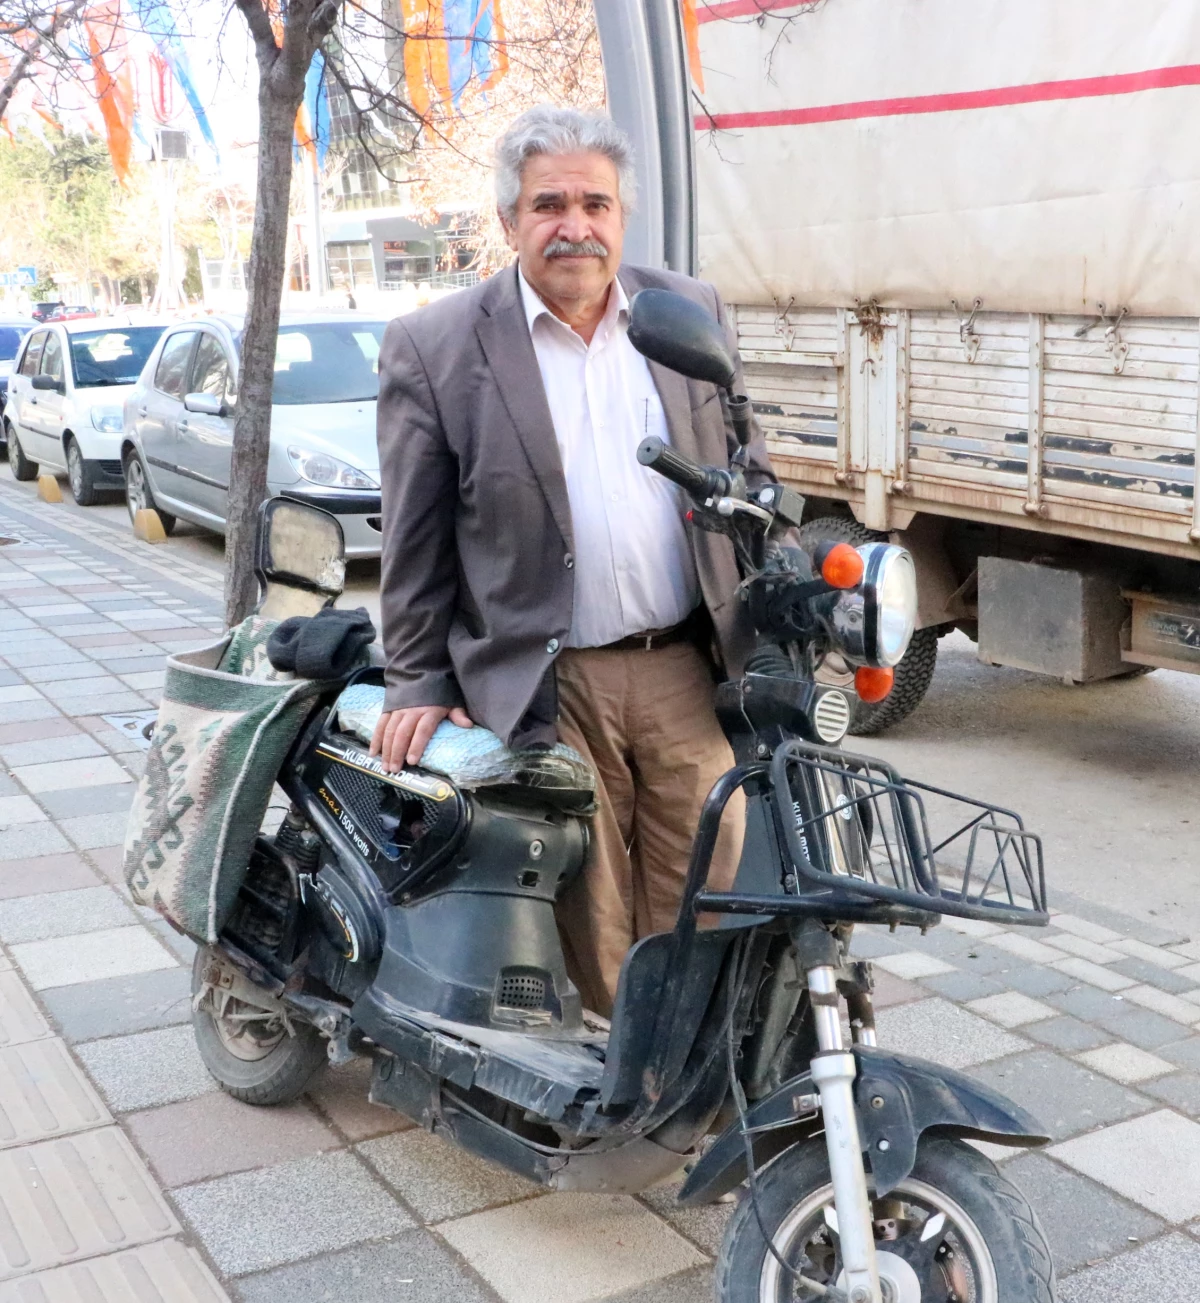
<path fill-rule="evenodd" d="M 354 683 L 337 698 L 337 727 L 370 743 L 383 711 L 383 688 Z M 443 721 L 421 757 L 421 767 L 442 774 L 468 791 L 479 787 L 537 788 L 550 804 L 588 805 L 595 775 L 577 751 L 563 743 L 512 751 L 487 728 L 460 728 Z"/>

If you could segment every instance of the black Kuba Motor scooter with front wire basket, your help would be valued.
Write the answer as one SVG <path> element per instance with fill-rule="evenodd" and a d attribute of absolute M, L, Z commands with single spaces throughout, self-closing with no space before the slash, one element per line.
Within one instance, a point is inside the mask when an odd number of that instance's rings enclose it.
<path fill-rule="evenodd" d="M 427 752 L 386 773 L 352 709 L 382 696 L 367 666 L 314 705 L 278 778 L 291 807 L 197 952 L 203 1061 L 267 1105 L 365 1055 L 374 1102 L 551 1190 L 637 1192 L 681 1170 L 683 1204 L 736 1190 L 721 1303 L 1051 1303 L 1036 1214 L 969 1144 L 1048 1136 L 965 1075 L 881 1049 L 870 966 L 851 954 L 859 924 L 1045 924 L 1041 843 L 1010 810 L 838 747 L 851 702 L 814 671 L 835 652 L 864 694 L 886 691 L 915 624 L 911 558 L 788 546 L 803 499 L 747 489 L 749 403 L 702 309 L 644 291 L 629 337 L 726 391 L 728 466 L 653 438 L 638 459 L 688 495 L 694 528 L 732 539 L 758 632 L 717 691 L 736 764 L 705 801 L 674 930 L 625 956 L 611 1023 L 584 1010 L 554 909 L 586 855 L 586 767 L 496 743 L 482 766 Z M 267 507 L 262 610 L 315 611 L 335 595 L 331 517 L 291 503 L 283 562 Z M 736 881 L 710 890 L 741 809 Z"/>

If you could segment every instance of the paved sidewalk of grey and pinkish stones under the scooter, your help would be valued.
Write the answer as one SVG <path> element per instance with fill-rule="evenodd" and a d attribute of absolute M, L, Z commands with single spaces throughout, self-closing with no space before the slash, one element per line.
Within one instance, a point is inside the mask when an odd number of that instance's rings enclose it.
<path fill-rule="evenodd" d="M 727 1205 L 541 1194 L 369 1105 L 362 1065 L 285 1109 L 214 1088 L 190 946 L 129 903 L 120 842 L 163 655 L 220 594 L 64 515 L 0 485 L 0 1303 L 706 1303 Z M 989 1153 L 1063 1303 L 1191 1303 L 1200 942 L 1057 903 L 1046 932 L 860 929 L 879 1041 L 1053 1132 Z"/>

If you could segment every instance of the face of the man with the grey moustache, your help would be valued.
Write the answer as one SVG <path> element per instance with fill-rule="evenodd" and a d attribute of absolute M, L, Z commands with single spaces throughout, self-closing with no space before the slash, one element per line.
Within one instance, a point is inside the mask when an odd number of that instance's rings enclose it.
<path fill-rule="evenodd" d="M 599 298 L 616 276 L 625 218 L 603 154 L 537 154 L 525 163 L 508 248 L 549 304 Z"/>

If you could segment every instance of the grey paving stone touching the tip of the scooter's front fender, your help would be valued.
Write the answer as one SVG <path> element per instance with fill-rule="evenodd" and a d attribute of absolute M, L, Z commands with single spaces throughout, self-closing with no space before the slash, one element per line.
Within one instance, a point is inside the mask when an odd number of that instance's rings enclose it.
<path fill-rule="evenodd" d="M 981 1063 L 969 1075 L 1028 1109 L 1055 1140 L 1153 1108 L 1143 1096 L 1049 1050 Z"/>

